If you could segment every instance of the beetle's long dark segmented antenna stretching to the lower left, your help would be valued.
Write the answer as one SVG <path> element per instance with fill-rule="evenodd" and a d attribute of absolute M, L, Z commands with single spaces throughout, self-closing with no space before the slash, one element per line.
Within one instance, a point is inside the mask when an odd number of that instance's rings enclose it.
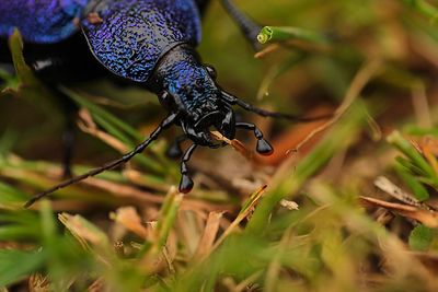
<path fill-rule="evenodd" d="M 79 183 L 88 177 L 91 176 L 95 176 L 100 173 L 103 173 L 105 171 L 112 170 L 120 164 L 125 164 L 127 163 L 129 160 L 131 160 L 135 155 L 137 155 L 138 153 L 141 153 L 152 141 L 154 141 L 161 133 L 161 131 L 165 128 L 168 128 L 169 126 L 171 126 L 176 118 L 176 114 L 172 114 L 169 117 L 166 117 L 161 124 L 160 126 L 157 127 L 157 129 L 149 136 L 148 139 L 146 139 L 143 142 L 141 142 L 140 144 L 138 144 L 131 152 L 126 153 L 125 155 L 123 155 L 120 159 L 105 163 L 103 166 L 101 167 L 96 167 L 93 168 L 91 171 L 89 171 L 88 173 L 84 173 L 82 175 L 76 176 L 69 180 L 65 180 L 45 191 L 42 191 L 39 194 L 36 194 L 35 196 L 33 196 L 25 205 L 24 208 L 28 208 L 31 207 L 34 202 L 36 202 L 37 200 L 42 199 L 43 197 L 58 190 L 61 188 L 65 188 L 69 185 Z"/>

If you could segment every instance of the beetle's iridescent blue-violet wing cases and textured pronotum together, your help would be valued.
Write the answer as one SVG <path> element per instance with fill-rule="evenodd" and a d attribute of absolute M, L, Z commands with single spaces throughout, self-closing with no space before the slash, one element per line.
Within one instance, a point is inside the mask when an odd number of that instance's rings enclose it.
<path fill-rule="evenodd" d="M 93 23 L 87 15 L 97 13 Z M 200 42 L 193 0 L 2 0 L 0 36 L 19 27 L 25 42 L 50 44 L 82 30 L 94 56 L 112 72 L 148 80 L 159 58 L 181 43 Z"/>

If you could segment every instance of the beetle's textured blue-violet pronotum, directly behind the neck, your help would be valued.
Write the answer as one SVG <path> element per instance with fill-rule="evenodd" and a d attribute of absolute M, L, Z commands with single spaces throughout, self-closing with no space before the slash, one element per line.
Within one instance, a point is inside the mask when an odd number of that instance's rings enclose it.
<path fill-rule="evenodd" d="M 83 15 L 81 25 L 97 60 L 138 82 L 148 80 L 172 47 L 200 42 L 194 0 L 104 0 Z"/>

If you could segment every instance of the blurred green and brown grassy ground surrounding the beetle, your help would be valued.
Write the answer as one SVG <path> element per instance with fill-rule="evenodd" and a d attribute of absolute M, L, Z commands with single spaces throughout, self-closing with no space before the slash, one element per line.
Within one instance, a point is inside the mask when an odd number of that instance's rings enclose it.
<path fill-rule="evenodd" d="M 18 77 L 0 71 L 0 291 L 438 291 L 438 1 L 239 4 L 293 33 L 254 59 L 214 1 L 200 54 L 219 83 L 266 107 L 334 116 L 256 118 L 276 153 L 197 153 L 185 197 L 164 156 L 170 131 L 123 172 L 23 209 L 60 177 L 62 116 L 11 38 Z M 131 149 L 164 115 L 138 89 L 61 90 L 81 107 L 77 174 Z"/>

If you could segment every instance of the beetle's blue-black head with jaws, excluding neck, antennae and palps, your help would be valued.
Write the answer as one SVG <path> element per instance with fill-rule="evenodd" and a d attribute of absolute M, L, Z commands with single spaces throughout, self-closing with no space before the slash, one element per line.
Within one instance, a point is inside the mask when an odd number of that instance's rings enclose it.
<path fill-rule="evenodd" d="M 228 139 L 235 135 L 234 112 L 220 97 L 216 84 L 216 71 L 209 66 L 194 66 L 186 60 L 172 68 L 177 74 L 169 78 L 166 91 L 160 101 L 180 114 L 184 133 L 199 145 L 219 147 L 210 137 L 210 130 L 218 130 Z"/>

